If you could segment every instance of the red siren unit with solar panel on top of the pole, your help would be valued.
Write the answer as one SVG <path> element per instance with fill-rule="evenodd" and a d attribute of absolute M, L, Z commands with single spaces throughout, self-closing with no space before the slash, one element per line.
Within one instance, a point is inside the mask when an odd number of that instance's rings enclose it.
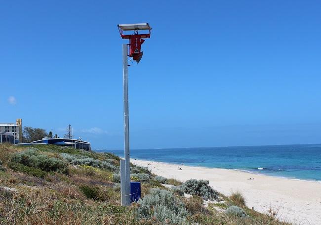
<path fill-rule="evenodd" d="M 152 28 L 148 23 L 136 23 L 136 24 L 119 24 L 118 29 L 120 31 L 120 37 L 122 39 L 129 39 L 129 55 L 133 57 L 137 63 L 143 57 L 143 51 L 141 51 L 141 45 L 145 42 L 143 38 L 151 37 Z M 149 30 L 148 34 L 138 34 L 139 30 Z M 134 31 L 134 34 L 126 35 L 124 31 Z"/>

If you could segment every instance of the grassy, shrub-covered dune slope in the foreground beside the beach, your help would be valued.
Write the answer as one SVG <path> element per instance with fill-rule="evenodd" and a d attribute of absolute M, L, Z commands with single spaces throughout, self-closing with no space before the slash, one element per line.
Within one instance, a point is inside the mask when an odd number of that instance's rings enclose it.
<path fill-rule="evenodd" d="M 35 151 L 33 154 L 37 156 L 20 157 L 27 149 Z M 81 161 L 73 164 L 61 153 L 86 160 L 84 164 Z M 225 203 L 205 208 L 200 196 L 187 199 L 175 191 L 182 182 L 168 179 L 167 183 L 176 187 L 166 188 L 155 179 L 156 175 L 134 165 L 134 172 L 145 174 L 139 176 L 150 177 L 141 183 L 145 200 L 122 207 L 120 184 L 114 179 L 114 174 L 119 173 L 119 157 L 111 153 L 52 145 L 29 148 L 0 144 L 0 161 L 0 225 L 288 225 L 278 221 L 277 215 L 246 208 L 241 193 L 230 198 L 218 194 Z M 88 161 L 97 163 L 90 166 Z M 62 166 L 68 173 L 62 172 Z M 146 204 L 145 208 L 142 203 Z M 247 216 L 239 218 L 224 213 L 231 205 L 239 205 Z"/>

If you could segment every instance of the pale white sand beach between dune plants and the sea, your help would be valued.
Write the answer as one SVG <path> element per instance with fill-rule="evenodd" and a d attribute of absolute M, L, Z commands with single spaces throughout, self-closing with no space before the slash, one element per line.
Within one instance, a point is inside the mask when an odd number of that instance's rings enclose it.
<path fill-rule="evenodd" d="M 131 163 L 148 167 L 152 173 L 165 178 L 185 181 L 209 180 L 217 191 L 230 195 L 233 190 L 243 194 L 247 207 L 261 213 L 271 208 L 278 211 L 281 221 L 295 225 L 321 225 L 321 182 L 291 180 L 250 174 L 227 169 L 189 167 L 168 163 L 131 159 Z M 152 165 L 148 165 L 151 163 Z M 178 170 L 177 167 L 182 170 Z M 254 178 L 254 180 L 247 180 Z"/>

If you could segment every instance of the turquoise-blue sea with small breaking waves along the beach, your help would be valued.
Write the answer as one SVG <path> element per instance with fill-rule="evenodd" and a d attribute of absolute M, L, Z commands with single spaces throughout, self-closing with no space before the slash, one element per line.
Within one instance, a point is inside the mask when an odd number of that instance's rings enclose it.
<path fill-rule="evenodd" d="M 109 151 L 123 157 L 123 150 Z M 130 157 L 302 180 L 321 180 L 321 144 L 132 149 Z"/>

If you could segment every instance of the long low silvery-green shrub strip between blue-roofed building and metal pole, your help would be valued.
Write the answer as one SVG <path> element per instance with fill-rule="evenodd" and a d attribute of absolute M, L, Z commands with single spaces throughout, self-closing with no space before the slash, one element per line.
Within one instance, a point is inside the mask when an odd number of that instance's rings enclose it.
<path fill-rule="evenodd" d="M 88 156 L 79 156 L 79 155 L 70 155 L 68 153 L 60 153 L 60 156 L 69 161 L 70 163 L 74 165 L 86 165 L 86 166 L 92 166 L 92 167 L 99 167 L 109 170 L 116 170 L 116 167 L 107 161 L 101 161 L 99 159 L 93 159 Z"/>

